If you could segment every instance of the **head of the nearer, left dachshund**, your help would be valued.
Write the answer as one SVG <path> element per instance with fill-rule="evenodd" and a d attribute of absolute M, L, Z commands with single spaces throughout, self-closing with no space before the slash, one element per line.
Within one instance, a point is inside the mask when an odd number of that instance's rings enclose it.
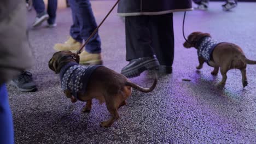
<path fill-rule="evenodd" d="M 60 73 L 61 68 L 69 62 L 79 63 L 80 57 L 71 51 L 59 51 L 55 52 L 53 57 L 50 59 L 48 65 L 49 68 L 55 71 L 56 74 Z"/>

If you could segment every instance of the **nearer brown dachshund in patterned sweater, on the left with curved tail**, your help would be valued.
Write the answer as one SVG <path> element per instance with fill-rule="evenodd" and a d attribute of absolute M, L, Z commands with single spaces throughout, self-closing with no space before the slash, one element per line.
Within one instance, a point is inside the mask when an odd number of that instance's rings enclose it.
<path fill-rule="evenodd" d="M 84 66 L 78 65 L 78 62 L 79 56 L 75 57 L 75 53 L 71 51 L 60 51 L 54 53 L 53 57 L 50 59 L 49 68 L 55 71 L 56 74 L 63 75 L 61 79 L 62 89 L 66 97 L 71 99 L 72 103 L 75 103 L 77 100 L 86 101 L 86 105 L 83 108 L 84 112 L 90 112 L 92 99 L 94 98 L 98 99 L 101 104 L 106 102 L 107 109 L 112 117 L 108 119 L 108 121 L 101 122 L 101 126 L 103 127 L 110 127 L 110 125 L 119 118 L 118 108 L 126 105 L 125 100 L 131 95 L 132 88 L 148 93 L 153 91 L 156 87 L 157 77 L 155 77 L 154 83 L 150 88 L 143 88 L 129 81 L 124 75 L 102 65 L 95 68 L 95 65 L 91 65 L 88 68 L 93 68 L 93 70 L 89 76 L 86 87 L 81 86 L 80 88 L 82 88 L 82 90 L 73 91 L 72 88 L 75 89 L 74 83 L 79 80 L 82 80 L 82 83 L 85 81 L 81 78 L 82 73 L 77 73 L 78 70 L 84 70 Z M 69 67 L 68 65 L 71 66 Z M 68 74 L 70 75 L 68 76 Z M 71 78 L 72 75 L 74 75 L 75 78 Z M 72 80 L 69 80 L 69 82 L 66 81 L 67 85 L 65 85 L 64 79 Z"/>

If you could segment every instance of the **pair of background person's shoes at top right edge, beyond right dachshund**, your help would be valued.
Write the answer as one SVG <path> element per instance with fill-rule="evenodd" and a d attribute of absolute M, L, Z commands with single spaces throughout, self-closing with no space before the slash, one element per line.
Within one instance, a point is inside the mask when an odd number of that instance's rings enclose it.
<path fill-rule="evenodd" d="M 207 10 L 210 0 L 193 0 L 194 3 L 197 4 L 197 7 L 195 9 L 199 10 Z M 237 6 L 236 0 L 226 0 L 226 3 L 222 5 L 222 9 L 224 11 L 228 11 L 232 8 L 235 8 Z"/>

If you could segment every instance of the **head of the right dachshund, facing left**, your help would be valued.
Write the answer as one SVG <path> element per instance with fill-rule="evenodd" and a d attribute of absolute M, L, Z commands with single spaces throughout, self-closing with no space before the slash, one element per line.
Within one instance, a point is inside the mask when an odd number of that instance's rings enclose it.
<path fill-rule="evenodd" d="M 188 41 L 185 41 L 183 46 L 188 49 L 191 47 L 195 47 L 197 42 L 203 37 L 211 37 L 211 35 L 209 33 L 193 32 L 189 34 Z"/>

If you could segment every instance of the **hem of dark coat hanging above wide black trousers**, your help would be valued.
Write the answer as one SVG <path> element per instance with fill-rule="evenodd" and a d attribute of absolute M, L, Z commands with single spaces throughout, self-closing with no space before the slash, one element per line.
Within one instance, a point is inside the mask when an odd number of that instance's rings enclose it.
<path fill-rule="evenodd" d="M 193 10 L 191 0 L 120 0 L 119 16 L 162 15 Z"/>

